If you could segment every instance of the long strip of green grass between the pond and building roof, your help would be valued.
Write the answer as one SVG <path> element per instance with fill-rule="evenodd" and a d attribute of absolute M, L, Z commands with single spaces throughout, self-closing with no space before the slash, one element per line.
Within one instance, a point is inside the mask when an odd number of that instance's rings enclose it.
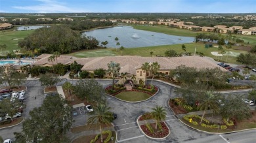
<path fill-rule="evenodd" d="M 123 50 L 123 56 L 142 56 L 142 57 L 150 57 L 150 52 L 153 52 L 153 56 L 165 56 L 166 50 L 175 50 L 178 53 L 184 52 L 181 48 L 182 44 L 175 44 L 175 45 L 164 45 L 164 46 L 149 46 L 149 47 L 142 47 L 142 48 L 125 48 Z M 205 48 L 205 44 L 203 43 L 188 43 L 184 44 L 186 46 L 186 52 L 191 52 L 192 55 L 194 54 L 194 50 L 196 47 L 197 52 L 202 52 L 207 57 L 216 58 L 216 56 L 213 56 L 211 52 L 217 52 L 218 48 Z M 217 46 L 217 44 L 214 44 L 213 46 Z M 234 54 L 240 54 L 240 53 L 246 53 L 242 50 L 234 50 L 236 47 L 233 47 L 230 50 L 227 50 L 223 46 L 224 50 L 226 52 L 230 51 Z M 102 56 L 121 56 L 121 51 L 117 50 L 115 48 L 106 48 L 106 49 L 100 49 L 100 50 L 88 50 L 88 51 L 82 51 L 82 52 L 75 52 L 72 54 L 69 54 L 75 57 L 102 57 Z M 230 54 L 231 55 L 231 54 Z M 236 57 L 228 56 L 228 63 L 237 63 Z M 221 58 L 220 58 L 221 59 Z M 223 60 L 226 61 L 226 56 L 223 56 Z"/>

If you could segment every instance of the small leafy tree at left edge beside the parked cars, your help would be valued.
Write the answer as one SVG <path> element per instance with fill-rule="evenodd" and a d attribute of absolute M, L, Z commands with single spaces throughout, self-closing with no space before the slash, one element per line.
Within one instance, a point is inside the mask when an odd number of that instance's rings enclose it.
<path fill-rule="evenodd" d="M 22 103 L 20 103 L 20 101 L 18 100 L 11 101 L 8 98 L 3 99 L 3 101 L 0 102 L 1 112 L 9 114 L 9 116 L 11 117 L 11 121 L 12 121 L 12 116 L 16 114 L 18 108 L 20 108 L 21 105 Z"/>

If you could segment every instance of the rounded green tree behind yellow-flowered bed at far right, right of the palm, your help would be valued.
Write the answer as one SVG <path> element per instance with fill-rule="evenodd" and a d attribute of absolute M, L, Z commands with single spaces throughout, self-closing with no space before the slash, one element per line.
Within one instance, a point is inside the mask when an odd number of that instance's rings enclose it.
<path fill-rule="evenodd" d="M 251 110 L 240 95 L 228 95 L 226 100 L 223 101 L 224 106 L 221 107 L 220 114 L 228 121 L 230 118 L 236 118 L 238 120 L 251 118 Z"/>

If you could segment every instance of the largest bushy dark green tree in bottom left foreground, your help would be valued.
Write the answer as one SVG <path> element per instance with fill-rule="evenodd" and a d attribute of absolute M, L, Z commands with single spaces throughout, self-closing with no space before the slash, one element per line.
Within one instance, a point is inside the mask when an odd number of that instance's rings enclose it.
<path fill-rule="evenodd" d="M 15 133 L 16 142 L 70 142 L 66 133 L 72 125 L 72 106 L 60 95 L 45 98 L 40 107 L 30 111 L 31 118 L 22 123 L 22 132 Z M 20 141 L 21 140 L 21 141 Z"/>

